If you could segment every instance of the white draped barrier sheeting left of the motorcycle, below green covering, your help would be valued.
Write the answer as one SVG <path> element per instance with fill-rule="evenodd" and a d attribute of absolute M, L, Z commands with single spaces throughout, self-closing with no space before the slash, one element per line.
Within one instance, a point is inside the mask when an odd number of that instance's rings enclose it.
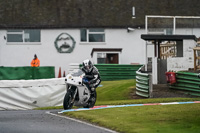
<path fill-rule="evenodd" d="M 65 93 L 64 78 L 0 80 L 0 110 L 62 106 Z"/>

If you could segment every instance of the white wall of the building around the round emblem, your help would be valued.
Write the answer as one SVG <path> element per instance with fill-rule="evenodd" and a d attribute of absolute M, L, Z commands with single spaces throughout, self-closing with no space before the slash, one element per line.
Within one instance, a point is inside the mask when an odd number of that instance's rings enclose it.
<path fill-rule="evenodd" d="M 72 53 L 58 53 L 54 41 L 61 33 L 70 34 L 76 41 Z M 79 29 L 45 29 L 41 30 L 41 44 L 8 45 L 4 36 L 6 30 L 0 31 L 0 66 L 30 66 L 34 54 L 38 55 L 41 66 L 55 66 L 56 77 L 59 67 L 68 72 L 70 63 L 82 63 L 84 59 L 91 59 L 92 48 L 122 48 L 121 64 L 145 62 L 145 41 L 141 34 L 145 31 L 136 29 L 105 29 L 106 43 L 80 43 Z"/>

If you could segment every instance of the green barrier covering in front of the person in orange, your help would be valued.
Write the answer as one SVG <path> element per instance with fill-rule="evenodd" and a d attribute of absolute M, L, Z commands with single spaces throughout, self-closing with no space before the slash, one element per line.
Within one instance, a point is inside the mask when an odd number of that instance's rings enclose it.
<path fill-rule="evenodd" d="M 0 80 L 55 78 L 54 67 L 0 67 Z"/>

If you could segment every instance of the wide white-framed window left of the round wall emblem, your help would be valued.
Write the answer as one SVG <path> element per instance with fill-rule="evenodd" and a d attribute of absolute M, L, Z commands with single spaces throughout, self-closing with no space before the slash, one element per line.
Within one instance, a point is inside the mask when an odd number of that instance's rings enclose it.
<path fill-rule="evenodd" d="M 7 42 L 40 42 L 40 30 L 7 30 Z"/>

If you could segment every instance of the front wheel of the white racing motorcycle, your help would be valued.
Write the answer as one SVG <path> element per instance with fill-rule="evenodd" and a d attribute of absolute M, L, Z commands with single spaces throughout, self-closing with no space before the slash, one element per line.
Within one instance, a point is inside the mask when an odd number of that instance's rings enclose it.
<path fill-rule="evenodd" d="M 67 109 L 71 109 L 74 102 L 72 101 L 73 100 L 73 95 L 72 95 L 72 91 L 69 90 L 66 94 L 65 94 L 65 97 L 64 97 L 64 101 L 63 101 L 63 108 L 65 110 Z"/>

